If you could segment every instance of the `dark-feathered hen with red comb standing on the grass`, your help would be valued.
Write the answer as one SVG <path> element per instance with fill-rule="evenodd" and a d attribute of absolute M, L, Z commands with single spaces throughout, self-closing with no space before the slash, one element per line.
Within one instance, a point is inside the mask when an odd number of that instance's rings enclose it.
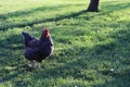
<path fill-rule="evenodd" d="M 50 35 L 50 30 L 46 28 L 39 39 L 27 34 L 22 33 L 25 44 L 25 58 L 30 61 L 30 67 L 35 69 L 35 61 L 39 62 L 41 69 L 42 60 L 47 59 L 53 53 L 54 45 Z"/>

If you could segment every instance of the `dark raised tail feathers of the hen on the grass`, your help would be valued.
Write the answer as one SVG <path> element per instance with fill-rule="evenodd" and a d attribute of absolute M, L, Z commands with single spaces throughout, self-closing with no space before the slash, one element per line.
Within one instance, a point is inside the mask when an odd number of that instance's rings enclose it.
<path fill-rule="evenodd" d="M 25 46 L 28 47 L 28 44 L 31 41 L 31 40 L 36 40 L 36 38 L 31 35 L 29 35 L 28 33 L 26 32 L 22 32 L 22 35 L 24 37 L 24 42 L 25 42 Z"/>

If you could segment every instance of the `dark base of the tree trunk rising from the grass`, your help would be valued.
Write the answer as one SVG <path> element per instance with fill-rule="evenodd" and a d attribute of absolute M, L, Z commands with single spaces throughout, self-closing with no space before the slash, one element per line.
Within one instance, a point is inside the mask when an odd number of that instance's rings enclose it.
<path fill-rule="evenodd" d="M 91 0 L 87 11 L 88 12 L 98 12 L 99 11 L 99 2 L 100 2 L 100 0 Z"/>

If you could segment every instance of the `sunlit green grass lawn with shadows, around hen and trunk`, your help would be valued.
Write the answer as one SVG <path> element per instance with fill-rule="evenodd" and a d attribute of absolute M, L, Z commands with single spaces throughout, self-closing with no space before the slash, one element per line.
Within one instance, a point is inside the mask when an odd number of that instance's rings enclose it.
<path fill-rule="evenodd" d="M 130 1 L 0 0 L 0 87 L 129 87 Z M 49 27 L 55 50 L 29 70 L 23 30 L 40 37 Z M 20 80 L 23 79 L 23 83 Z"/>

